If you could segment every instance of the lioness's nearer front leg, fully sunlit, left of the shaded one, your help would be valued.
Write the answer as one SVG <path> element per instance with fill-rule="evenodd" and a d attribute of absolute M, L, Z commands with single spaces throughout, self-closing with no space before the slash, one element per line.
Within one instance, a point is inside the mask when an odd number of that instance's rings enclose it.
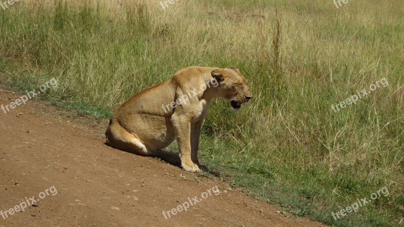
<path fill-rule="evenodd" d="M 191 123 L 185 118 L 173 115 L 171 118 L 179 148 L 182 167 L 189 172 L 199 173 L 200 169 L 191 159 Z"/>

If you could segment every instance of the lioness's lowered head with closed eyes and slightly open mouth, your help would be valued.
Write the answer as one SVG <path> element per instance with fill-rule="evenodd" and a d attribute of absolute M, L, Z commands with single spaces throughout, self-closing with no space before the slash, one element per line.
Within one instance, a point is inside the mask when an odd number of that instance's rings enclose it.
<path fill-rule="evenodd" d="M 233 110 L 238 111 L 242 103 L 248 102 L 252 98 L 247 80 L 237 68 L 214 69 L 211 74 L 219 82 L 217 88 L 221 97 L 226 98 L 230 102 Z"/>

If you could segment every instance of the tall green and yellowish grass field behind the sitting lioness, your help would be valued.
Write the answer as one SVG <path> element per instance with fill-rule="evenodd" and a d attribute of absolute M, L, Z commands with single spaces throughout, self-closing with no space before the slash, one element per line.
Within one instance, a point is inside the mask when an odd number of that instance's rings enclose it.
<path fill-rule="evenodd" d="M 402 0 L 29 1 L 0 8 L 0 82 L 95 118 L 184 66 L 236 66 L 254 98 L 215 100 L 201 159 L 285 215 L 404 225 Z M 334 106 L 385 78 L 356 104 Z M 341 106 L 341 105 L 340 105 Z M 2 113 L 3 114 L 3 113 Z M 171 147 L 176 149 L 176 145 Z M 388 196 L 337 212 L 386 187 Z"/>

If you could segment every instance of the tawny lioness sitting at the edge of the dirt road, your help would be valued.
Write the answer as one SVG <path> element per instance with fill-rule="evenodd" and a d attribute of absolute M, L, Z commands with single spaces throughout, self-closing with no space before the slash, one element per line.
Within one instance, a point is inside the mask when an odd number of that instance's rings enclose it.
<path fill-rule="evenodd" d="M 149 87 L 124 102 L 111 117 L 107 144 L 131 153 L 156 155 L 177 139 L 182 167 L 200 172 L 201 125 L 212 98 L 229 100 L 232 109 L 251 97 L 247 81 L 234 67 L 186 67 L 172 79 Z"/>

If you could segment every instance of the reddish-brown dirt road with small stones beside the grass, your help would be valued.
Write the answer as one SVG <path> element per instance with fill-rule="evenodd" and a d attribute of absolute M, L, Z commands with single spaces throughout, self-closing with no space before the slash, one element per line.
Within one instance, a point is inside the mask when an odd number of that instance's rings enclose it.
<path fill-rule="evenodd" d="M 0 88 L 0 105 L 17 98 Z M 0 226 L 325 226 L 282 216 L 227 182 L 108 147 L 106 120 L 80 124 L 33 100 L 0 111 Z"/>

